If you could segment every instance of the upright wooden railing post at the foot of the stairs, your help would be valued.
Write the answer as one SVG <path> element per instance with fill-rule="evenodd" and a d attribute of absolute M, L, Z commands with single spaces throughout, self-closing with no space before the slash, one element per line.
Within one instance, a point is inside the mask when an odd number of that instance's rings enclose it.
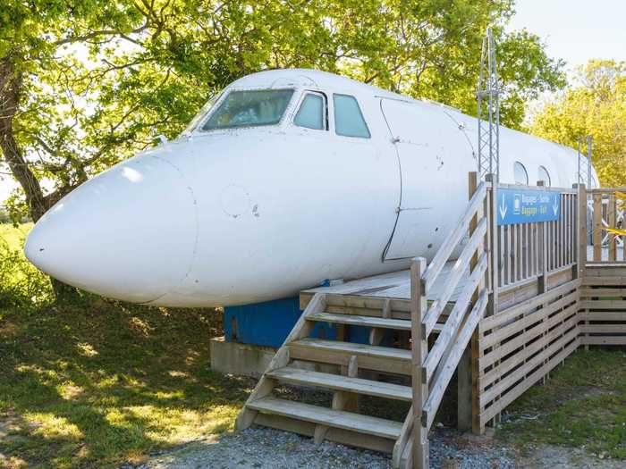
<path fill-rule="evenodd" d="M 427 297 L 422 281 L 426 259 L 417 257 L 410 264 L 411 381 L 413 387 L 413 468 L 427 469 L 428 431 L 422 422 L 422 409 L 428 398 L 428 385 L 422 384 L 422 369 L 428 353 L 427 338 L 422 336 L 422 320 L 427 312 Z"/>

